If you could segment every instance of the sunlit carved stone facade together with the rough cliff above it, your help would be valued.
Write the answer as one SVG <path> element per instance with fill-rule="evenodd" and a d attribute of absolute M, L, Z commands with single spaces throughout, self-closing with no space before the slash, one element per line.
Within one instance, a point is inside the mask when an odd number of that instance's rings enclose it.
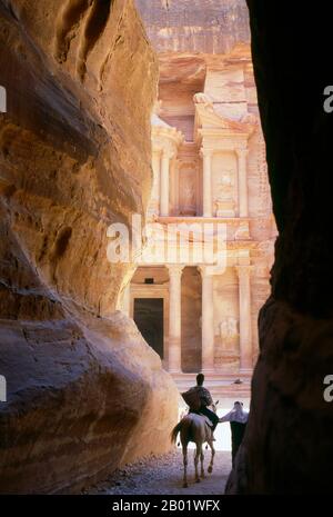
<path fill-rule="evenodd" d="M 276 229 L 246 7 L 202 3 L 137 2 L 160 64 L 148 210 L 153 238 L 151 260 L 144 253 L 123 308 L 145 328 L 140 304 L 163 305 L 162 338 L 148 341 L 180 388 L 202 369 L 218 397 L 249 399 Z M 206 261 L 200 250 L 210 232 L 214 252 Z M 243 384 L 234 385 L 239 378 Z"/>

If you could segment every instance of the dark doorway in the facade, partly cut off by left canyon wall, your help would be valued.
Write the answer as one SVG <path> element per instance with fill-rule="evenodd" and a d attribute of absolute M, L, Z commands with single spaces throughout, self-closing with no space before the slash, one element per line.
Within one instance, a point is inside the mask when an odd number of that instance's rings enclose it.
<path fill-rule="evenodd" d="M 163 359 L 163 298 L 135 298 L 134 321 L 145 341 Z"/>

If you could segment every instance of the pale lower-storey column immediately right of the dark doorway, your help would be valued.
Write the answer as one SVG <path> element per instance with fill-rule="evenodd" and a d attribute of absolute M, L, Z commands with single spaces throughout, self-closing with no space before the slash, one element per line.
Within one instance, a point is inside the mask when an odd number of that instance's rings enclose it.
<path fill-rule="evenodd" d="M 182 266 L 169 266 L 169 371 L 181 371 L 181 278 Z"/>

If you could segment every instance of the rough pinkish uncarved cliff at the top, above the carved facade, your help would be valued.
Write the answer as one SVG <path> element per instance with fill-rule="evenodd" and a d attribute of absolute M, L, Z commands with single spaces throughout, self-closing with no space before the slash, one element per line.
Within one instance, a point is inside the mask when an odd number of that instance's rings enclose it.
<path fill-rule="evenodd" d="M 158 52 L 228 53 L 250 42 L 243 0 L 135 0 Z"/>

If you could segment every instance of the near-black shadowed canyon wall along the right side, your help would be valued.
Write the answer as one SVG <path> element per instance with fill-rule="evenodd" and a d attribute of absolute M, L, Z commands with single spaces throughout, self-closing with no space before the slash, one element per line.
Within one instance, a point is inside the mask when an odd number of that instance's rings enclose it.
<path fill-rule="evenodd" d="M 332 6 L 248 0 L 280 237 L 260 316 L 251 417 L 231 494 L 331 493 L 333 405 Z M 309 38 L 313 28 L 315 38 Z M 282 36 L 283 34 L 283 36 Z M 309 69 L 309 56 L 317 56 Z"/>

